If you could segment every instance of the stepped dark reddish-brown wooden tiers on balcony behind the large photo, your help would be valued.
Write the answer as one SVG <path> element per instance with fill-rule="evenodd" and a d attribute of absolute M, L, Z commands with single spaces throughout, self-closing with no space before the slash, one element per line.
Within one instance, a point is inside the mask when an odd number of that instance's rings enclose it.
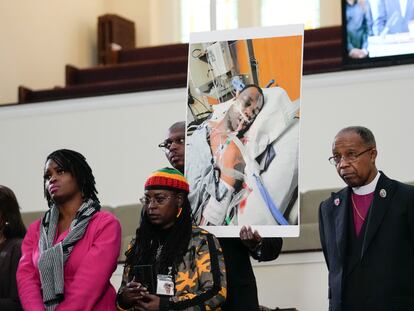
<path fill-rule="evenodd" d="M 20 86 L 19 103 L 186 87 L 188 44 L 112 52 L 116 64 L 79 69 L 66 65 L 66 86 L 31 90 Z M 303 74 L 343 70 L 342 27 L 306 30 Z"/>

